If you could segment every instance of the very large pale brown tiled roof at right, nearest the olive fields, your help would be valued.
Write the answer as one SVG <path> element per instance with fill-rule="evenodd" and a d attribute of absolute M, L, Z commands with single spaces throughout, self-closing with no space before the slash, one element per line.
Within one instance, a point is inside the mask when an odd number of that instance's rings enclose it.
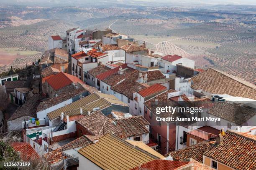
<path fill-rule="evenodd" d="M 212 68 L 191 78 L 191 87 L 195 90 L 205 90 L 215 94 L 228 94 L 256 100 L 256 86 Z"/>

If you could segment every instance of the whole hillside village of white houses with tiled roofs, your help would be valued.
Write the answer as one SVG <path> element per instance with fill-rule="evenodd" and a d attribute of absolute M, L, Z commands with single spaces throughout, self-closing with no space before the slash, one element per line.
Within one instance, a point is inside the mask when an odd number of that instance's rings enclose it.
<path fill-rule="evenodd" d="M 17 106 L 5 131 L 20 132 L 11 145 L 23 160 L 53 170 L 256 169 L 255 85 L 110 29 L 72 28 L 48 42 L 30 71 L 0 81 Z M 156 113 L 165 106 L 203 111 Z"/>

